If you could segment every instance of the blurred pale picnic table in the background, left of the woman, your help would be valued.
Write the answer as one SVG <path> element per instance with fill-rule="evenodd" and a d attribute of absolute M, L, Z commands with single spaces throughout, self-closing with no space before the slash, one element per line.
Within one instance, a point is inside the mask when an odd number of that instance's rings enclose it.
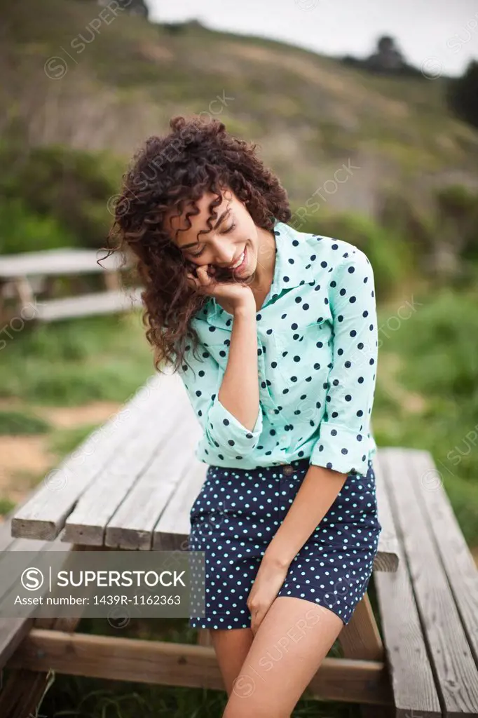
<path fill-rule="evenodd" d="M 91 314 L 123 312 L 141 304 L 141 290 L 121 288 L 120 269 L 115 254 L 100 258 L 91 249 L 47 249 L 0 256 L 0 314 L 5 320 L 22 317 L 35 322 L 84 317 Z M 104 277 L 106 291 L 87 292 L 72 297 L 39 300 L 42 292 L 50 294 L 52 281 L 58 276 L 78 278 L 82 274 Z M 7 308 L 7 300 L 11 307 Z"/>

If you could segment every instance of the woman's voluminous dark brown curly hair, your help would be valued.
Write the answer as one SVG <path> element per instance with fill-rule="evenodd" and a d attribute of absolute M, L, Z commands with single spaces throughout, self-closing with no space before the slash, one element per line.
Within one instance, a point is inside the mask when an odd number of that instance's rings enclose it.
<path fill-rule="evenodd" d="M 243 202 L 256 226 L 272 230 L 274 220 L 291 218 L 289 200 L 278 178 L 263 166 L 257 145 L 238 139 L 217 119 L 193 115 L 169 120 L 171 131 L 164 137 L 151 136 L 134 154 L 114 207 L 114 221 L 108 240 L 118 239 L 107 256 L 120 252 L 124 264 L 133 268 L 144 291 L 142 320 L 146 339 L 154 349 L 154 366 L 167 362 L 177 370 L 185 361 L 187 337 L 197 349 L 197 332 L 189 320 L 209 297 L 187 283 L 186 263 L 164 228 L 167 213 L 184 206 L 197 215 L 196 200 L 205 192 L 217 194 L 212 200 L 207 225 L 216 218 L 215 207 L 222 202 L 221 190 L 232 190 Z"/>

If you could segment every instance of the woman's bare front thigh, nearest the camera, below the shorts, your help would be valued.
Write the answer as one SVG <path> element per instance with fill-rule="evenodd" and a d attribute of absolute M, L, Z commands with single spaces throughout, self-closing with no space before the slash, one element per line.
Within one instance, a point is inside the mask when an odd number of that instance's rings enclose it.
<path fill-rule="evenodd" d="M 222 718 L 290 718 L 343 626 L 328 608 L 277 597 L 253 639 Z"/>

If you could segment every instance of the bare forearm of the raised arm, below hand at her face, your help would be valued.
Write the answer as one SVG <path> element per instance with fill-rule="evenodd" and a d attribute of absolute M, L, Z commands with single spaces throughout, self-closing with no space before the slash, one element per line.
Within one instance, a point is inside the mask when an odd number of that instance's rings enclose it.
<path fill-rule="evenodd" d="M 259 412 L 255 305 L 234 311 L 228 364 L 217 397 L 246 429 L 253 429 Z"/>

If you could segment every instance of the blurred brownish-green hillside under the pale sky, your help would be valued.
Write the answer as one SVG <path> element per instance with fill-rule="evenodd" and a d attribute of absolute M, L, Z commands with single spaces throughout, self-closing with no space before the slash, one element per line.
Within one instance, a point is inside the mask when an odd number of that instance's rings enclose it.
<path fill-rule="evenodd" d="M 380 78 L 195 23 L 173 32 L 125 12 L 103 20 L 91 1 L 46 0 L 39 13 L 23 0 L 3 15 L 4 126 L 33 144 L 126 158 L 172 114 L 212 112 L 260 144 L 293 202 L 348 159 L 360 172 L 331 207 L 368 211 L 403 178 L 422 195 L 453 177 L 476 184 L 478 133 L 446 113 L 443 80 Z"/>

